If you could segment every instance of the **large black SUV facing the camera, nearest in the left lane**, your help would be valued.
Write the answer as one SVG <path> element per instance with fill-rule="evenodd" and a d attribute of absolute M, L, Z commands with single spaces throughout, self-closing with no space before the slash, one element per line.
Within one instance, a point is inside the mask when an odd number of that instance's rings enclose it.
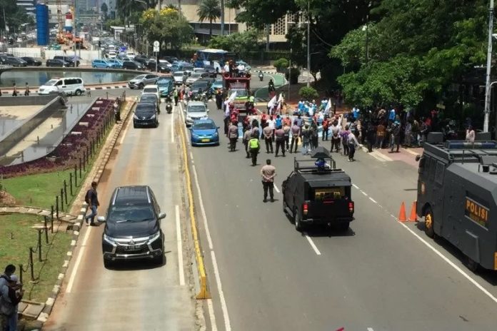
<path fill-rule="evenodd" d="M 164 234 L 157 199 L 149 186 L 121 186 L 112 193 L 102 235 L 104 266 L 116 260 L 154 259 L 164 263 Z"/>

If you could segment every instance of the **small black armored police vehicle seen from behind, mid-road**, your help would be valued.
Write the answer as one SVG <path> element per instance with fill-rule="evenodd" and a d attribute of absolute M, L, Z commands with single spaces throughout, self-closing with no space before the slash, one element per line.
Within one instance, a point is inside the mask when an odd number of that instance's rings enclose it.
<path fill-rule="evenodd" d="M 294 159 L 282 193 L 283 212 L 293 218 L 298 231 L 318 224 L 346 231 L 353 220 L 351 178 L 336 168 L 326 148 L 314 149 L 311 160 Z"/>

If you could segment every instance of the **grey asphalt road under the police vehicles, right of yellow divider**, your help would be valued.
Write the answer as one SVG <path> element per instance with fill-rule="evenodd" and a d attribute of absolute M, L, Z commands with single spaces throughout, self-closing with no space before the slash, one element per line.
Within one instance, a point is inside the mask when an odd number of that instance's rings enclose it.
<path fill-rule="evenodd" d="M 251 167 L 241 143 L 229 153 L 221 111 L 210 106 L 221 145 L 191 148 L 206 213 L 206 223 L 198 217 L 213 293 L 210 330 L 496 329 L 496 274 L 474 275 L 450 245 L 426 238 L 422 223 L 395 219 L 401 201 L 409 212 L 416 200 L 416 168 L 363 151 L 354 163 L 334 154 L 353 180 L 356 219 L 343 235 L 302 235 L 283 214 L 281 193 L 263 203 L 259 175 L 271 158 L 281 188 L 295 154 L 274 158 L 261 148 Z"/>

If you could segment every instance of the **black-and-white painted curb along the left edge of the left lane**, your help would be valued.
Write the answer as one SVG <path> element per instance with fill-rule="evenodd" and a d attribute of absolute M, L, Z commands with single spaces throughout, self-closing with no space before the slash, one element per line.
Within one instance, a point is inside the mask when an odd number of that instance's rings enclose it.
<path fill-rule="evenodd" d="M 98 101 L 97 101 L 98 102 Z M 111 156 L 111 151 L 114 150 L 114 147 L 116 146 L 117 138 L 119 137 L 119 134 L 121 133 L 121 130 L 124 126 L 124 123 L 128 120 L 129 114 L 131 113 L 131 108 L 134 106 L 134 101 L 131 101 L 129 103 L 129 106 L 127 107 L 126 113 L 124 114 L 123 118 L 121 119 L 121 122 L 117 124 L 116 131 L 114 132 L 114 136 L 111 138 L 111 144 L 106 148 L 104 158 L 100 161 L 98 165 L 98 170 L 96 171 L 96 175 L 94 176 L 92 181 L 96 181 L 99 183 L 100 178 L 102 176 L 102 173 L 104 173 L 104 169 L 109 163 L 109 158 Z M 74 248 L 76 248 L 76 243 L 79 238 L 80 230 L 81 230 L 81 224 L 84 222 L 84 215 L 86 215 L 86 210 L 88 210 L 88 204 L 86 202 L 83 203 L 81 206 L 81 209 L 79 210 L 79 214 L 76 218 L 76 221 L 74 222 L 73 225 L 73 236 L 71 240 L 71 248 L 67 251 L 67 258 L 64 260 L 64 264 L 62 265 L 61 271 L 59 273 L 59 277 L 57 278 L 57 281 L 54 285 L 54 288 L 52 289 L 51 295 L 46 299 L 45 302 L 45 307 L 43 310 L 41 310 L 40 315 L 38 316 L 37 320 L 40 322 L 46 322 L 48 320 L 49 315 L 51 313 L 51 310 L 54 308 L 54 303 L 57 298 L 57 295 L 59 294 L 59 291 L 61 290 L 62 282 L 64 281 L 64 277 L 67 272 L 67 268 L 69 268 L 69 263 L 71 262 L 72 255 L 74 253 Z"/>

